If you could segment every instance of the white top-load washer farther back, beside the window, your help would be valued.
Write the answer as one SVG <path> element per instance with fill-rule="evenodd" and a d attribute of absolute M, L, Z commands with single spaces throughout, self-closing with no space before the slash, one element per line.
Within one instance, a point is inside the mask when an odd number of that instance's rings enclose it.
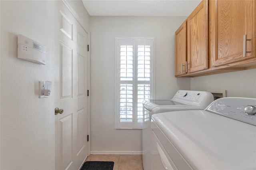
<path fill-rule="evenodd" d="M 151 170 L 151 116 L 156 113 L 204 110 L 214 101 L 207 91 L 179 90 L 170 100 L 144 100 L 144 121 L 142 129 L 142 162 L 144 170 Z"/>

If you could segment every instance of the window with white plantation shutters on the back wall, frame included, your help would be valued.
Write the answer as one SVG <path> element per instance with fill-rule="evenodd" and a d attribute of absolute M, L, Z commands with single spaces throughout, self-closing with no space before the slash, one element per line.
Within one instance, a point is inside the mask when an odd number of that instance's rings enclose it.
<path fill-rule="evenodd" d="M 153 98 L 154 38 L 116 38 L 116 128 L 142 128 Z"/>

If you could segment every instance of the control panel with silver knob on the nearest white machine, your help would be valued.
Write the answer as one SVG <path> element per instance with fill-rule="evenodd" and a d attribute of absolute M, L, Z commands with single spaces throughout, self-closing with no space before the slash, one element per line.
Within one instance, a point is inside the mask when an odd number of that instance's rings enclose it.
<path fill-rule="evenodd" d="M 215 100 L 207 111 L 256 126 L 256 99 L 226 97 Z"/>

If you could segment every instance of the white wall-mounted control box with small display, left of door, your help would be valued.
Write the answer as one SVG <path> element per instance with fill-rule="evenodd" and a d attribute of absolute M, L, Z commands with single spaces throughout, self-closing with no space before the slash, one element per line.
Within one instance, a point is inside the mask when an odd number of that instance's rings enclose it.
<path fill-rule="evenodd" d="M 21 34 L 18 35 L 18 58 L 38 64 L 46 64 L 46 47 Z"/>

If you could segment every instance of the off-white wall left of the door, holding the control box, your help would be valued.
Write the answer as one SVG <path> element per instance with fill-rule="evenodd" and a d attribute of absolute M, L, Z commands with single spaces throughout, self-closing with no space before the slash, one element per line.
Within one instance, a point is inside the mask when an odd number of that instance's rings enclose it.
<path fill-rule="evenodd" d="M 1 1 L 1 170 L 54 169 L 54 1 Z M 46 65 L 17 58 L 17 34 L 46 46 Z M 54 87 L 52 87 L 54 89 Z"/>

